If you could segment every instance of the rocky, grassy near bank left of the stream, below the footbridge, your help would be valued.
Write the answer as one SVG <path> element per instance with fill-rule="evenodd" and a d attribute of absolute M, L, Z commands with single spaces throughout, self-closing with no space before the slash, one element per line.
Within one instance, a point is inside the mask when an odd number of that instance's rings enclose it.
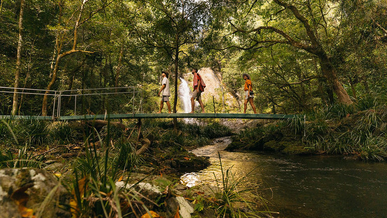
<path fill-rule="evenodd" d="M 8 122 L 15 131 L 2 134 L 11 135 L 3 140 L 11 147 L 2 144 L 0 155 L 0 208 L 9 211 L 6 217 L 263 214 L 256 212 L 256 203 L 238 203 L 242 198 L 235 195 L 235 187 L 228 186 L 235 183 L 226 171 L 228 185 L 225 181 L 196 187 L 180 183 L 179 174 L 210 166 L 209 157 L 185 148 L 201 147 L 231 134 L 219 123 L 180 123 L 180 130 L 174 131 L 170 121 L 145 122 L 144 137 L 138 141 L 132 123 L 89 128 L 82 123 Z M 29 132 L 37 129 L 46 134 Z M 29 141 L 28 135 L 32 136 Z"/>

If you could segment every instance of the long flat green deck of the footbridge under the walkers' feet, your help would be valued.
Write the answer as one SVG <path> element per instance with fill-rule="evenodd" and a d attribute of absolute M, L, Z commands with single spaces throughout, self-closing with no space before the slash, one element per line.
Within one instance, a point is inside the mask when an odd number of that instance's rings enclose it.
<path fill-rule="evenodd" d="M 79 115 L 79 116 L 60 116 L 58 120 L 104 120 L 104 119 L 152 119 L 152 118 L 226 118 L 226 119 L 268 119 L 268 120 L 286 120 L 302 115 L 282 115 L 282 114 L 111 114 L 111 115 Z M 47 116 L 2 116 L 0 119 L 36 119 L 52 120 Z"/>

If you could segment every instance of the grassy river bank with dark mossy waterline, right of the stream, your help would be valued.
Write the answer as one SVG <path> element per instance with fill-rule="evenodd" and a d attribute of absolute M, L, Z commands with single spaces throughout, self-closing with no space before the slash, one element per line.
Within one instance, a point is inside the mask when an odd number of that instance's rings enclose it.
<path fill-rule="evenodd" d="M 387 159 L 387 110 L 357 111 L 333 105 L 303 119 L 251 122 L 232 138 L 229 151 L 269 151 L 294 155 L 344 155 L 348 159 Z"/>

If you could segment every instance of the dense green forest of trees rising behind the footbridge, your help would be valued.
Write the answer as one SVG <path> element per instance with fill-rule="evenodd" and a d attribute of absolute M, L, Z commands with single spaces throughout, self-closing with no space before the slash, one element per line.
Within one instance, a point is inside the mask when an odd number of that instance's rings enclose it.
<path fill-rule="evenodd" d="M 136 86 L 144 110 L 154 112 L 161 70 L 177 84 L 190 68 L 211 67 L 235 94 L 240 75 L 249 73 L 261 112 L 349 105 L 385 91 L 386 8 L 373 0 L 3 0 L 0 85 Z M 2 93 L 1 102 L 2 114 L 15 115 L 46 115 L 53 104 L 47 95 L 23 93 Z"/>

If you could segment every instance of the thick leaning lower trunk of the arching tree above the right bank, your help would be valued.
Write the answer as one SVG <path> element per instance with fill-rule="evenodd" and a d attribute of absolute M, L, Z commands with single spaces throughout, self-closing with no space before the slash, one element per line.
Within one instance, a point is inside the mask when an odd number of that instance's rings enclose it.
<path fill-rule="evenodd" d="M 322 74 L 327 78 L 329 83 L 332 85 L 332 89 L 337 95 L 337 98 L 340 103 L 352 104 L 352 100 L 349 97 L 347 91 L 344 89 L 343 85 L 340 83 L 339 79 L 336 76 L 335 69 L 332 66 L 331 61 L 324 54 L 318 57 L 320 61 Z"/>

